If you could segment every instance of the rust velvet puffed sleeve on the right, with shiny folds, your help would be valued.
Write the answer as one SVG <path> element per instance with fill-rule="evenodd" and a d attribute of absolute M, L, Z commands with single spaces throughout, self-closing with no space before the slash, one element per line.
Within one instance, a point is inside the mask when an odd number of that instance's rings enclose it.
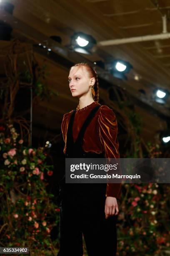
<path fill-rule="evenodd" d="M 117 120 L 113 110 L 106 105 L 100 107 L 98 116 L 100 141 L 105 151 L 105 157 L 120 158 L 117 141 Z M 120 199 L 121 183 L 107 183 L 106 197 Z"/>

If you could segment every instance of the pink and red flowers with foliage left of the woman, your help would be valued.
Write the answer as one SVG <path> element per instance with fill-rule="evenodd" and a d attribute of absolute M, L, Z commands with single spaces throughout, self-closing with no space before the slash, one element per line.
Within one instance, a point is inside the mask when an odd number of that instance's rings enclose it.
<path fill-rule="evenodd" d="M 55 250 L 50 231 L 59 223 L 60 208 L 47 194 L 45 148 L 24 146 L 13 124 L 0 127 L 0 245 Z M 55 221 L 54 221 L 55 220 Z M 56 241 L 58 242 L 58 241 Z"/>

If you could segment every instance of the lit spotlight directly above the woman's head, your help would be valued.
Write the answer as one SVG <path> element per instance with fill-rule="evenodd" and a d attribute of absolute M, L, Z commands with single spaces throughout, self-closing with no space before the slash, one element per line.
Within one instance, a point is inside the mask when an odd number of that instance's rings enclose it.
<path fill-rule="evenodd" d="M 94 44 L 97 44 L 95 38 L 83 32 L 77 32 L 71 36 L 70 48 L 74 51 L 91 54 L 90 49 L 92 49 Z"/>

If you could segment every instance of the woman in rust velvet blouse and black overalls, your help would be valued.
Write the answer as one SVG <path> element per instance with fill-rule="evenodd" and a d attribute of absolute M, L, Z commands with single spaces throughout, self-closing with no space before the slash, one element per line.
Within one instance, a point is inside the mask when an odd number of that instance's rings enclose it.
<path fill-rule="evenodd" d="M 100 105 L 98 78 L 87 63 L 75 64 L 68 77 L 76 110 L 62 120 L 66 158 L 119 158 L 115 113 Z M 60 251 L 57 256 L 82 256 L 82 235 L 88 256 L 115 256 L 120 183 L 70 184 L 59 182 Z"/>

